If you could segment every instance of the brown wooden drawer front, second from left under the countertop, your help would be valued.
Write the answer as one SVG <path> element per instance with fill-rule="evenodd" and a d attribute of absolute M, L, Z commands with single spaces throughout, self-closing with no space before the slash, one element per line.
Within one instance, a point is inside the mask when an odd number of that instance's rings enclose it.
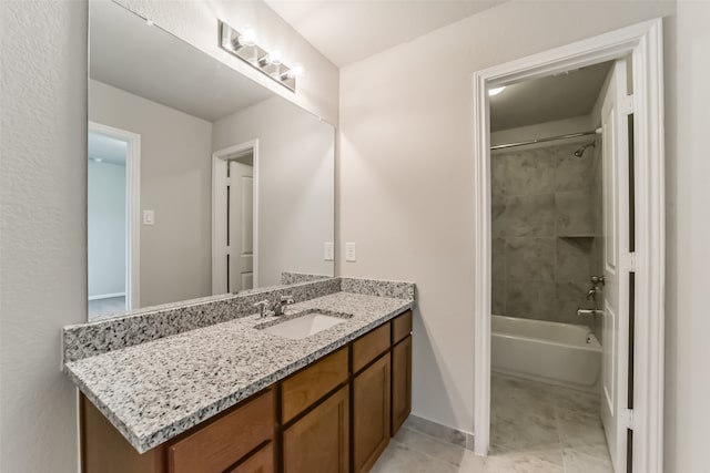
<path fill-rule="evenodd" d="M 345 381 L 347 348 L 292 376 L 281 384 L 282 422 L 288 422 Z"/>

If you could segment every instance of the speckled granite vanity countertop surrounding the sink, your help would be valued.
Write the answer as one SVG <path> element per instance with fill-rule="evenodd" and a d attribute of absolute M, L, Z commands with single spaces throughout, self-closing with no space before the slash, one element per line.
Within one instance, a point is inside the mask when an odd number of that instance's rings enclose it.
<path fill-rule="evenodd" d="M 413 300 L 335 292 L 290 306 L 285 317 L 308 309 L 353 316 L 301 340 L 255 329 L 265 320 L 254 315 L 68 361 L 64 372 L 143 453 L 413 306 Z"/>

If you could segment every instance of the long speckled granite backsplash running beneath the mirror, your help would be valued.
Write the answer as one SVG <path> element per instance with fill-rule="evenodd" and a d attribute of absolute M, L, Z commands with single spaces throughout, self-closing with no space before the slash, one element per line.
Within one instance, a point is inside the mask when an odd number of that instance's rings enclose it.
<path fill-rule="evenodd" d="M 67 326 L 62 330 L 63 359 L 80 360 L 245 317 L 254 313 L 254 304 L 263 299 L 273 302 L 283 295 L 290 295 L 296 302 L 301 302 L 339 290 L 339 278 L 329 278 L 237 295 L 203 297 L 140 309 L 89 323 Z"/>

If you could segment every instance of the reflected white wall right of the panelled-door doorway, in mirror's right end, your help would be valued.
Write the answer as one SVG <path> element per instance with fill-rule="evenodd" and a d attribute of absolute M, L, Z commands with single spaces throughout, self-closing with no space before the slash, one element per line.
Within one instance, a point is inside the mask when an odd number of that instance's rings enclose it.
<path fill-rule="evenodd" d="M 214 151 L 258 138 L 258 285 L 281 284 L 284 270 L 332 275 L 333 127 L 276 96 L 212 130 Z"/>

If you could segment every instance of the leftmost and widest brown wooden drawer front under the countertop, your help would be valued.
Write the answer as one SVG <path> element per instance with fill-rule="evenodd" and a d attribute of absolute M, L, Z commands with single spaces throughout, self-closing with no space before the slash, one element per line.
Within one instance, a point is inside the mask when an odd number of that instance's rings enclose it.
<path fill-rule="evenodd" d="M 170 446 L 170 472 L 223 472 L 260 443 L 272 440 L 275 420 L 274 393 L 268 390 Z"/>

